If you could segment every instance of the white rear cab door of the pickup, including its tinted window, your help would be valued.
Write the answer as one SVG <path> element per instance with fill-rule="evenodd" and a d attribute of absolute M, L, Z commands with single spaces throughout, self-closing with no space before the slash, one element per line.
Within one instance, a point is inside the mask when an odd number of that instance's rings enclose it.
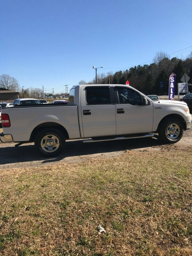
<path fill-rule="evenodd" d="M 116 135 L 116 106 L 110 86 L 87 86 L 81 91 L 85 138 Z"/>

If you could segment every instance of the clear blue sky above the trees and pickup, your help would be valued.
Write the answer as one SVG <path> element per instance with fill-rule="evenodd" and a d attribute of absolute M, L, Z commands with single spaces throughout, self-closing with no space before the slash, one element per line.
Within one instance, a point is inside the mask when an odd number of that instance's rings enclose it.
<path fill-rule="evenodd" d="M 0 75 L 47 92 L 92 80 L 93 65 L 116 72 L 192 45 L 191 0 L 6 0 L 0 8 Z"/>

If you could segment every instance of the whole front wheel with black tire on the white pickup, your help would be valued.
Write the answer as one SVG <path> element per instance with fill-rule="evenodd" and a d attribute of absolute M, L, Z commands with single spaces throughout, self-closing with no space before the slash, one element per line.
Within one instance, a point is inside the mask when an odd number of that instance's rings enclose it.
<path fill-rule="evenodd" d="M 165 119 L 158 129 L 159 138 L 165 143 L 176 143 L 183 136 L 183 124 L 177 118 Z"/>

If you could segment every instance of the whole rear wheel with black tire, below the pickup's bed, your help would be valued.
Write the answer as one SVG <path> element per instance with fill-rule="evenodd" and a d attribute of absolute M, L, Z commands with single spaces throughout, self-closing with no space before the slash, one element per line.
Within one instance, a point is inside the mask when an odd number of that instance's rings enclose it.
<path fill-rule="evenodd" d="M 65 147 L 62 132 L 53 128 L 40 131 L 35 138 L 36 151 L 45 157 L 58 156 Z"/>

